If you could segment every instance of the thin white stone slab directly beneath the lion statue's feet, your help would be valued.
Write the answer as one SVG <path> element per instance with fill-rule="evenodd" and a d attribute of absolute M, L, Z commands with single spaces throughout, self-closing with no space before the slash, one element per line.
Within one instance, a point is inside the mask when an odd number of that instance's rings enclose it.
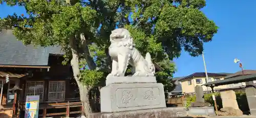
<path fill-rule="evenodd" d="M 106 78 L 106 86 L 115 83 L 157 83 L 156 77 L 109 77 Z"/>

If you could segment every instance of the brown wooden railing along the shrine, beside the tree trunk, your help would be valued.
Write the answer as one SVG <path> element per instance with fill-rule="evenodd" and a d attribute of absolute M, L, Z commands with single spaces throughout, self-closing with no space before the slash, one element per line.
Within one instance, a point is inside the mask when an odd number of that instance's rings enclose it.
<path fill-rule="evenodd" d="M 70 111 L 70 108 L 78 107 L 77 111 Z M 55 113 L 47 113 L 47 109 L 63 109 L 65 108 L 65 112 L 55 112 Z M 20 109 L 25 110 L 25 103 L 20 103 Z M 39 110 L 42 109 L 42 114 L 39 114 L 39 117 L 47 117 L 54 115 L 66 115 L 69 117 L 70 114 L 82 113 L 83 106 L 79 99 L 69 99 L 66 101 L 51 101 L 51 102 L 40 102 Z"/>

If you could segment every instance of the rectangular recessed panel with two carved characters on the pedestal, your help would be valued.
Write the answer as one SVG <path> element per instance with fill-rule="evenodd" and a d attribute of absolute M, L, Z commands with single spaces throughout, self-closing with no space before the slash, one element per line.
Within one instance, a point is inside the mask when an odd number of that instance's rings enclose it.
<path fill-rule="evenodd" d="M 161 104 L 158 87 L 118 88 L 116 90 L 118 108 L 154 106 Z"/>

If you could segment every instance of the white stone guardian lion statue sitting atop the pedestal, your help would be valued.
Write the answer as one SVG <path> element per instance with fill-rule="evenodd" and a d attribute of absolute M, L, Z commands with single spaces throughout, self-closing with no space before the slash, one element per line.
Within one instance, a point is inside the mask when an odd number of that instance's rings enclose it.
<path fill-rule="evenodd" d="M 128 30 L 123 28 L 113 30 L 110 41 L 109 54 L 113 62 L 112 72 L 108 77 L 124 76 L 128 64 L 133 66 L 133 76 L 154 76 L 155 65 L 152 62 L 151 55 L 147 53 L 146 57 L 143 58 L 135 48 L 133 38 Z"/>

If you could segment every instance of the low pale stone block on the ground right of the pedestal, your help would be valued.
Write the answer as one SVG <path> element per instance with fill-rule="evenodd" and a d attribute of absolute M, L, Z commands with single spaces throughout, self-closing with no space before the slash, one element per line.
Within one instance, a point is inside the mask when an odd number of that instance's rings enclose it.
<path fill-rule="evenodd" d="M 189 107 L 188 114 L 209 116 L 216 115 L 214 107 Z"/>

